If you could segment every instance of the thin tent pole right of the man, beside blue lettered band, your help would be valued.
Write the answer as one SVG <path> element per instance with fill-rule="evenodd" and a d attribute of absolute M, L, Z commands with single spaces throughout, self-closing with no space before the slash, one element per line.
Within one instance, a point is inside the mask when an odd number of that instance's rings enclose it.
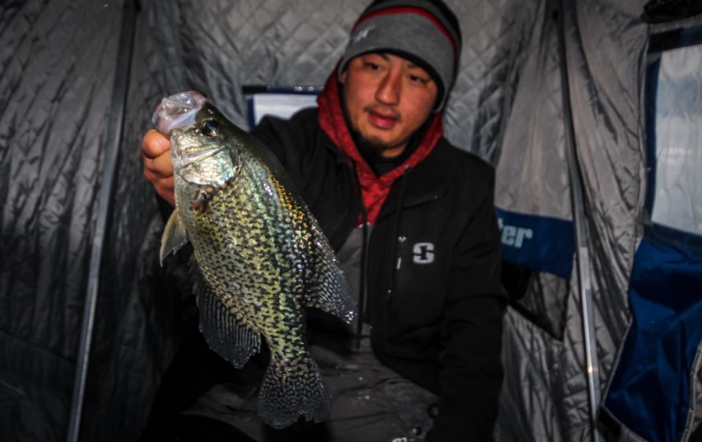
<path fill-rule="evenodd" d="M 583 201 L 583 183 L 578 165 L 573 114 L 571 112 L 570 82 L 566 51 L 565 12 L 568 0 L 561 0 L 558 11 L 558 46 L 561 67 L 561 91 L 563 95 L 563 120 L 565 143 L 570 176 L 571 204 L 575 229 L 576 262 L 578 266 L 578 291 L 580 292 L 583 316 L 583 337 L 585 340 L 586 377 L 588 379 L 588 400 L 590 402 L 590 435 L 593 442 L 600 442 L 597 430 L 597 412 L 600 409 L 600 364 L 597 359 L 595 338 L 595 315 L 592 307 L 592 273 L 588 249 L 588 226 Z"/>

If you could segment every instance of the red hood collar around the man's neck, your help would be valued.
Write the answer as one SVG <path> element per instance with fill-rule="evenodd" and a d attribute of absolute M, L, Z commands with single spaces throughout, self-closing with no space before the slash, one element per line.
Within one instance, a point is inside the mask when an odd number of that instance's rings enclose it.
<path fill-rule="evenodd" d="M 324 91 L 317 97 L 319 105 L 319 125 L 331 138 L 331 141 L 355 163 L 356 172 L 361 186 L 363 202 L 366 206 L 366 221 L 376 221 L 380 208 L 390 193 L 392 183 L 406 171 L 416 167 L 435 148 L 437 141 L 444 135 L 442 128 L 442 112 L 435 112 L 430 117 L 432 121 L 426 134 L 412 154 L 398 167 L 382 176 L 376 176 L 369 164 L 361 156 L 356 147 L 344 118 L 339 96 L 336 70 L 327 79 Z M 359 222 L 362 220 L 359 220 Z"/>

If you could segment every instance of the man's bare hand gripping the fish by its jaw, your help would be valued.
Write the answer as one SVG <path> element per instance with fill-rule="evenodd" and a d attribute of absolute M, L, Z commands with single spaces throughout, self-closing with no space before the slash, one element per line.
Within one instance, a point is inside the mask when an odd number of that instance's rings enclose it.
<path fill-rule="evenodd" d="M 151 129 L 141 140 L 141 159 L 147 181 L 154 186 L 156 193 L 175 207 L 171 141 L 161 132 Z"/>

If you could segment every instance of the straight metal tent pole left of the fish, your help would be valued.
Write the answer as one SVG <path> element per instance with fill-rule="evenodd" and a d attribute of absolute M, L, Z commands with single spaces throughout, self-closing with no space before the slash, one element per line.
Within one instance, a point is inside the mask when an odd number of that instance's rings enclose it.
<path fill-rule="evenodd" d="M 81 417 L 88 375 L 88 359 L 91 351 L 93 325 L 95 323 L 95 306 L 98 299 L 98 286 L 100 283 L 100 266 L 102 263 L 102 249 L 105 242 L 105 230 L 110 216 L 112 190 L 114 177 L 117 173 L 117 160 L 119 158 L 119 143 L 121 141 L 124 122 L 124 108 L 129 81 L 129 70 L 133 50 L 134 28 L 136 20 L 136 0 L 122 2 L 122 22 L 117 46 L 117 65 L 115 67 L 114 85 L 112 88 L 112 103 L 110 103 L 110 117 L 107 126 L 107 144 L 105 145 L 105 162 L 102 166 L 102 186 L 100 188 L 100 205 L 95 221 L 95 234 L 93 235 L 93 248 L 91 261 L 88 267 L 88 286 L 83 312 L 83 325 L 81 327 L 81 341 L 77 356 L 76 375 L 74 378 L 73 398 L 67 441 L 77 442 L 80 435 Z"/>

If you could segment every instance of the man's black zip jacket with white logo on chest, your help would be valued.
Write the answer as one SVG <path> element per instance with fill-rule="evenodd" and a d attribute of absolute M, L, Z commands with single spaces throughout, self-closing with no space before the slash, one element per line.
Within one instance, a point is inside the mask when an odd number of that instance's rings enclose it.
<path fill-rule="evenodd" d="M 338 249 L 362 200 L 351 160 L 321 129 L 317 112 L 267 117 L 253 135 L 279 157 Z M 493 189 L 493 169 L 442 138 L 393 183 L 369 238 L 373 350 L 439 395 L 430 441 L 491 439 L 506 304 Z"/>

